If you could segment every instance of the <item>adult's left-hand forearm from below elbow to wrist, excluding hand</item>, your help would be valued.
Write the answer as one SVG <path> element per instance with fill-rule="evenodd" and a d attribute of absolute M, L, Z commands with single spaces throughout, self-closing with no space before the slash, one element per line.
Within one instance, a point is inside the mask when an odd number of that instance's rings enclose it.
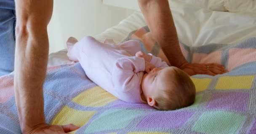
<path fill-rule="evenodd" d="M 29 33 L 19 29 L 16 36 L 14 88 L 21 129 L 45 122 L 43 83 L 48 60 L 46 29 Z M 42 47 L 43 46 L 43 47 Z"/>

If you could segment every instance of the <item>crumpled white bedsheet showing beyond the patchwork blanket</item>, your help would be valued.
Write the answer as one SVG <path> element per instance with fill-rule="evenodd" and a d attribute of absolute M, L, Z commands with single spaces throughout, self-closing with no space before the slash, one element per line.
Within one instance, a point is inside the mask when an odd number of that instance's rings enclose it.
<path fill-rule="evenodd" d="M 256 14 L 212 11 L 188 5 L 172 6 L 172 14 L 179 40 L 188 46 L 210 43 L 233 44 L 256 37 Z M 136 11 L 117 26 L 94 36 L 96 39 L 122 41 L 128 33 L 146 26 L 141 12 Z M 72 63 L 67 59 L 67 50 L 49 55 L 48 66 Z"/>

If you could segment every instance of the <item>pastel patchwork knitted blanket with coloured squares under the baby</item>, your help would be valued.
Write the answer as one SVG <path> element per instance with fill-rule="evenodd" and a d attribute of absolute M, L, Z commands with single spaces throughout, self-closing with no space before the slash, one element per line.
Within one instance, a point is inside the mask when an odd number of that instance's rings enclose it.
<path fill-rule="evenodd" d="M 148 27 L 124 40 L 138 40 L 142 50 L 167 61 Z M 48 124 L 81 126 L 77 134 L 256 134 L 256 38 L 237 44 L 189 47 L 180 43 L 190 63 L 218 63 L 228 73 L 195 75 L 192 106 L 158 111 L 147 104 L 118 100 L 86 77 L 79 63 L 48 67 L 44 83 Z M 21 133 L 13 74 L 0 77 L 0 134 Z"/>

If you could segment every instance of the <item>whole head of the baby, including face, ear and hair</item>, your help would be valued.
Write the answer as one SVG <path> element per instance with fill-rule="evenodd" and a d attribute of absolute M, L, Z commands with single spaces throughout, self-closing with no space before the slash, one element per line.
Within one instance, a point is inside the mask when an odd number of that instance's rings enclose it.
<path fill-rule="evenodd" d="M 175 110 L 195 101 L 195 85 L 189 75 L 177 67 L 154 68 L 141 82 L 144 99 L 159 110 Z"/>

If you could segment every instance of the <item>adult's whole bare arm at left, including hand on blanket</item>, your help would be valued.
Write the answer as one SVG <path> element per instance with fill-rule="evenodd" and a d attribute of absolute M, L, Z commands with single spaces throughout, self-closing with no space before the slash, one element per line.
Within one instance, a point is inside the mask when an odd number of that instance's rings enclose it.
<path fill-rule="evenodd" d="M 77 129 L 73 125 L 45 124 L 43 83 L 48 60 L 47 25 L 51 19 L 53 0 L 15 0 L 16 50 L 14 89 L 21 131 L 59 133 Z"/>

